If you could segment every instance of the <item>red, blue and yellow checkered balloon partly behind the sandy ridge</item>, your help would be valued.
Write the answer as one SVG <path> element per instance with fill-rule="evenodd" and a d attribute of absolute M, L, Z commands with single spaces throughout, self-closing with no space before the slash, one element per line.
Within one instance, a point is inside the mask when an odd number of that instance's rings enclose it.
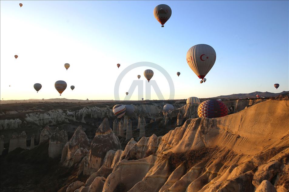
<path fill-rule="evenodd" d="M 198 107 L 198 116 L 199 117 L 223 117 L 228 114 L 227 106 L 218 100 L 206 100 L 203 101 Z"/>

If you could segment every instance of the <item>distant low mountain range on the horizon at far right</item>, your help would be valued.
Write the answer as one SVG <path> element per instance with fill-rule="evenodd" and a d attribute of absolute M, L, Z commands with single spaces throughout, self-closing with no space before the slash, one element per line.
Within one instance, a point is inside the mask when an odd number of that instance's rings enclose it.
<path fill-rule="evenodd" d="M 212 97 L 212 99 L 239 99 L 239 98 L 256 98 L 256 95 L 260 97 L 275 97 L 281 94 L 289 94 L 289 91 L 282 91 L 281 93 L 270 93 L 270 92 L 260 92 L 255 91 L 253 93 L 238 93 L 231 95 L 220 95 L 218 97 Z"/>

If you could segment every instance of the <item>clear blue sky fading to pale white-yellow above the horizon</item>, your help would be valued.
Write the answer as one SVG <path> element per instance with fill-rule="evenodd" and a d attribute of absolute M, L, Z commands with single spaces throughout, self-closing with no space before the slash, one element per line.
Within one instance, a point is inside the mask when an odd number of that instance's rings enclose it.
<path fill-rule="evenodd" d="M 153 16 L 159 4 L 172 9 L 165 27 Z M 169 72 L 176 99 L 289 90 L 288 1 L 1 1 L 0 10 L 4 100 L 114 99 L 119 72 L 141 61 Z M 186 62 L 187 50 L 201 43 L 217 54 L 203 84 Z M 121 99 L 144 69 L 123 79 Z M 164 77 L 154 72 L 168 98 Z M 54 89 L 57 80 L 68 84 L 62 96 Z M 34 83 L 42 84 L 38 94 Z"/>

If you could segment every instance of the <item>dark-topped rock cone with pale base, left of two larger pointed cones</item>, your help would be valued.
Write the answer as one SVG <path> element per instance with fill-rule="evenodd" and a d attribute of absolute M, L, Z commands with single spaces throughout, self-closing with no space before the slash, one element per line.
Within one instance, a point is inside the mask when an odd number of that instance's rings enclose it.
<path fill-rule="evenodd" d="M 55 129 L 54 133 L 49 139 L 48 156 L 50 158 L 61 157 L 62 149 L 65 145 L 65 138 L 63 138 L 58 127 Z"/>

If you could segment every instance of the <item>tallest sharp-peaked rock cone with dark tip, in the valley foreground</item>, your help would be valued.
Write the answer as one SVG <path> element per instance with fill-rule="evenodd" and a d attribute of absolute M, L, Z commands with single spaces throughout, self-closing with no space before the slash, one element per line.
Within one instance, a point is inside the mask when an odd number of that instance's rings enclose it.
<path fill-rule="evenodd" d="M 100 168 L 106 152 L 111 149 L 116 151 L 120 148 L 119 139 L 113 134 L 108 119 L 105 118 L 97 129 L 89 154 L 84 160 L 83 174 L 90 175 L 96 172 Z"/>

